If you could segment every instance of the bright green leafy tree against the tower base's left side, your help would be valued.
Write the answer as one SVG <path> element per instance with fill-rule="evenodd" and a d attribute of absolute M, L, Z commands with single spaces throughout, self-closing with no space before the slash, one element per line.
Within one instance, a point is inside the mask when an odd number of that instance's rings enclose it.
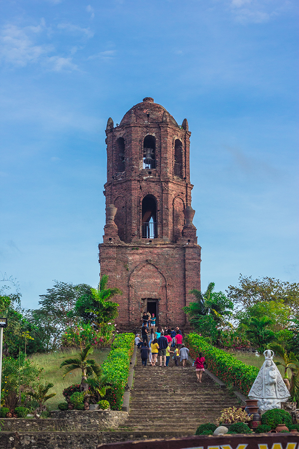
<path fill-rule="evenodd" d="M 108 323 L 118 317 L 119 304 L 110 299 L 123 294 L 118 288 L 107 289 L 108 279 L 107 275 L 101 276 L 99 288 L 90 287 L 90 291 L 82 295 L 75 304 L 75 313 L 85 323 L 93 322 L 98 329 L 101 323 Z"/>

